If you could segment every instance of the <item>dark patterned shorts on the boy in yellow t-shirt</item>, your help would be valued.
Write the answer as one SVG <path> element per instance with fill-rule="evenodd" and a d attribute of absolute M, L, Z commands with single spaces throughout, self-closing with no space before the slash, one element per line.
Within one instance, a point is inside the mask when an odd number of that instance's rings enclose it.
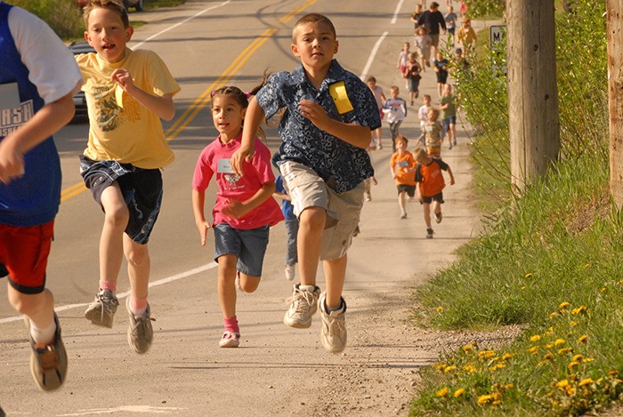
<path fill-rule="evenodd" d="M 93 161 L 86 156 L 80 156 L 80 174 L 102 211 L 104 208 L 101 205 L 101 193 L 117 181 L 130 213 L 125 234 L 137 244 L 146 245 L 162 204 L 160 170 L 145 170 L 117 161 Z"/>

